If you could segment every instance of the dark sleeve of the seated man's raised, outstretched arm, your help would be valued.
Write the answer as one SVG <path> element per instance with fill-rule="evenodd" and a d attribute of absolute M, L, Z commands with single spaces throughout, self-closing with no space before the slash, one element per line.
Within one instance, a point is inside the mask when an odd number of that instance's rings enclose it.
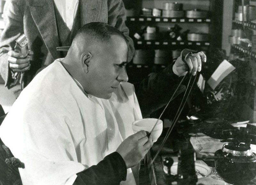
<path fill-rule="evenodd" d="M 173 65 L 174 63 L 159 73 L 153 73 L 147 76 L 140 83 L 134 84 L 143 118 L 166 105 L 177 89 L 183 77 L 179 77 L 173 73 Z M 185 89 L 186 87 L 181 85 L 173 98 Z"/>

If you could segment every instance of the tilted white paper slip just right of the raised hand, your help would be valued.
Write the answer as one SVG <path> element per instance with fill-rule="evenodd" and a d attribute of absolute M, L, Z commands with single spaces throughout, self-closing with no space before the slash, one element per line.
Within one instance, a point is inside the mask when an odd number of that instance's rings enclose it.
<path fill-rule="evenodd" d="M 232 64 L 230 64 L 227 60 L 223 60 L 207 83 L 214 90 L 217 85 L 234 69 L 236 68 Z"/>

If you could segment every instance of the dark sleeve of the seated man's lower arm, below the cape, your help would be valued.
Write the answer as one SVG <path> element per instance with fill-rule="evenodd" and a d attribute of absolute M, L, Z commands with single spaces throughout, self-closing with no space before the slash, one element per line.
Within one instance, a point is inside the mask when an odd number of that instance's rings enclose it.
<path fill-rule="evenodd" d="M 118 152 L 107 155 L 97 165 L 77 173 L 73 185 L 117 185 L 126 180 L 127 169 L 124 159 Z"/>

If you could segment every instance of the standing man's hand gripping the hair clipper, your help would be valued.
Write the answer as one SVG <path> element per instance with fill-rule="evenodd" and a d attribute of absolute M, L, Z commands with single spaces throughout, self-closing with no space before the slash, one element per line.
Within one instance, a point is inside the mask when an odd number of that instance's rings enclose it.
<path fill-rule="evenodd" d="M 23 56 L 13 50 L 8 52 L 8 62 L 14 73 L 25 72 L 30 69 L 29 56 L 33 55 L 33 51 L 29 51 L 28 56 Z"/>

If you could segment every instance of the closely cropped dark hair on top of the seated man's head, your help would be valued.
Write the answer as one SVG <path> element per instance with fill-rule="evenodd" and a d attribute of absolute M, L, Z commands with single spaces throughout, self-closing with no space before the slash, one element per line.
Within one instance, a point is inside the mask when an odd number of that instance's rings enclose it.
<path fill-rule="evenodd" d="M 74 38 L 75 42 L 81 42 L 81 40 L 86 39 L 90 42 L 108 42 L 112 35 L 119 35 L 124 38 L 127 43 L 127 39 L 118 29 L 112 27 L 103 22 L 91 22 L 85 24 L 81 27 Z"/>

